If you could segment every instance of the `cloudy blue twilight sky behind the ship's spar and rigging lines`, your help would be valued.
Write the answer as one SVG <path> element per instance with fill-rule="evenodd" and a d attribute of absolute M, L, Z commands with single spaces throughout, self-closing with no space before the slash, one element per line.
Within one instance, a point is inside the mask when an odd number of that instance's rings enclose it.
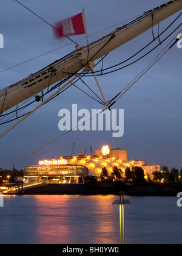
<path fill-rule="evenodd" d="M 20 1 L 53 25 L 64 18 L 81 12 L 84 4 L 89 35 L 140 15 L 165 2 L 165 0 Z M 179 13 L 163 21 L 160 24 L 160 30 L 164 30 L 177 15 Z M 39 20 L 39 18 L 24 9 L 15 0 L 1 0 L 0 19 L 0 33 L 4 35 L 4 49 L 0 49 L 0 71 L 70 43 L 67 38 L 62 40 L 56 39 L 53 36 L 52 27 Z M 174 26 L 167 30 L 161 40 L 170 34 L 180 23 L 181 18 Z M 118 26 L 93 35 L 89 38 L 89 41 L 92 42 L 103 37 L 105 34 L 109 34 L 116 27 Z M 167 43 L 175 35 L 177 36 L 180 29 L 164 44 L 139 62 L 121 71 L 103 77 L 99 76 L 98 80 L 103 88 L 106 99 L 113 98 L 138 73 L 146 68 L 151 60 L 164 49 Z M 157 27 L 155 27 L 154 34 L 157 36 L 157 33 Z M 73 40 L 79 40 L 80 38 L 83 38 L 83 35 L 72 37 Z M 104 60 L 104 67 L 126 60 L 151 40 L 152 30 L 149 30 L 115 51 L 110 52 Z M 79 41 L 79 44 L 86 44 L 86 40 Z M 152 46 L 154 47 L 157 44 L 158 40 Z M 144 52 L 152 49 L 152 46 L 149 46 Z M 0 73 L 0 90 L 24 79 L 29 74 L 44 68 L 49 63 L 60 59 L 74 50 L 74 44 L 70 44 L 58 51 Z M 164 164 L 169 166 L 169 168 L 176 167 L 181 169 L 181 54 L 182 49 L 174 46 L 133 88 L 124 94 L 120 101 L 113 105 L 115 109 L 124 109 L 123 137 L 112 138 L 112 131 L 70 132 L 49 146 L 16 163 L 15 167 L 20 169 L 23 165 L 36 165 L 38 160 L 70 155 L 73 143 L 75 142 L 75 154 L 84 152 L 85 149 L 87 149 L 87 154 L 90 154 L 90 145 L 93 151 L 95 151 L 101 149 L 103 144 L 109 144 L 110 148 L 127 149 L 128 157 L 132 160 L 146 160 L 148 164 Z M 84 80 L 98 93 L 93 77 L 86 77 Z M 85 89 L 83 83 L 78 82 L 77 85 Z M 78 89 L 69 88 L 65 93 L 62 93 L 49 102 L 49 104 L 40 108 L 23 123 L 19 124 L 18 127 L 0 139 L 0 167 L 4 168 L 61 135 L 58 129 L 58 122 L 60 120 L 58 112 L 62 108 L 71 110 L 72 104 L 78 104 L 78 109 L 87 108 L 90 111 L 92 108 L 101 108 L 100 104 L 88 98 Z M 31 109 L 36 107 L 36 105 L 32 105 Z M 12 126 L 12 124 L 14 123 L 2 125 L 0 127 L 1 133 Z"/>

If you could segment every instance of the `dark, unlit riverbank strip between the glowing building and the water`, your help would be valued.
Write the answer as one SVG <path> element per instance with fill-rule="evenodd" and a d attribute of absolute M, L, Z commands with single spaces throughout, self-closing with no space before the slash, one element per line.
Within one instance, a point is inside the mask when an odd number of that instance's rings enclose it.
<path fill-rule="evenodd" d="M 129 196 L 177 196 L 182 192 L 182 184 L 145 184 L 145 185 L 127 185 L 126 183 L 99 183 L 99 184 L 47 184 L 44 187 L 29 188 L 24 190 L 24 194 L 124 194 Z"/>

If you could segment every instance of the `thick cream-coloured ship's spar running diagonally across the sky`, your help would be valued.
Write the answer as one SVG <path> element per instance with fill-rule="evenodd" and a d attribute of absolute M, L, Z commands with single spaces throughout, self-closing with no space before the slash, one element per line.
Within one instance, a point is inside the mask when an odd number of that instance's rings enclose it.
<path fill-rule="evenodd" d="M 94 61 L 142 34 L 152 26 L 166 20 L 182 9 L 182 0 L 172 0 L 143 13 L 142 16 L 114 30 L 87 46 L 76 46 L 66 57 L 56 60 L 35 74 L 0 91 L 0 114 L 29 99 L 62 79 L 70 79 L 75 73 L 93 68 Z M 89 64 L 89 65 L 88 65 Z"/>

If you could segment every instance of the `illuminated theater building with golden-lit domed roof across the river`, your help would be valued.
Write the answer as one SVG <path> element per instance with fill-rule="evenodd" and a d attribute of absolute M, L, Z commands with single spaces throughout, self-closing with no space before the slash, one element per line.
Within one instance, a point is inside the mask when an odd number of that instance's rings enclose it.
<path fill-rule="evenodd" d="M 127 151 L 110 149 L 103 146 L 95 154 L 79 153 L 75 157 L 60 157 L 52 160 L 41 160 L 39 165 L 24 166 L 24 177 L 29 182 L 41 181 L 46 183 L 84 183 L 84 177 L 98 177 L 106 167 L 111 176 L 113 167 L 117 166 L 124 176 L 127 167 L 141 166 L 140 163 L 128 160 Z M 143 166 L 142 166 L 143 167 Z"/>

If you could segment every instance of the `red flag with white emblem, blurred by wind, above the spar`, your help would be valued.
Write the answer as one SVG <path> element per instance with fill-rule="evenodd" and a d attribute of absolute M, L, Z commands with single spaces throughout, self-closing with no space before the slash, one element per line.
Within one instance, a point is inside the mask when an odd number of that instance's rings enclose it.
<path fill-rule="evenodd" d="M 85 34 L 83 13 L 62 20 L 55 26 L 56 37 Z"/>

